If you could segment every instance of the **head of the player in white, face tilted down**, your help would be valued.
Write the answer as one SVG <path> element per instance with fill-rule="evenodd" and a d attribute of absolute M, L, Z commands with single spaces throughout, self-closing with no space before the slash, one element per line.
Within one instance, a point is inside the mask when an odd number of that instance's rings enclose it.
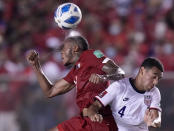
<path fill-rule="evenodd" d="M 163 77 L 164 67 L 162 63 L 156 59 L 149 57 L 143 61 L 139 70 L 139 77 L 144 91 L 151 90 L 156 86 Z"/>

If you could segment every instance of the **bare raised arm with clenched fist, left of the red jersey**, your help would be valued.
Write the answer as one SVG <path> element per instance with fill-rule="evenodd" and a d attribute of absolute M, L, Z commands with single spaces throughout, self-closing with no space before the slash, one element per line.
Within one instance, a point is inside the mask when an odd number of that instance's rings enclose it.
<path fill-rule="evenodd" d="M 56 95 L 64 94 L 71 90 L 74 85 L 68 83 L 64 79 L 58 80 L 54 85 L 49 81 L 49 79 L 45 76 L 44 72 L 42 71 L 38 53 L 34 50 L 31 50 L 27 53 L 27 61 L 31 64 L 40 87 L 42 88 L 44 94 L 47 97 L 53 97 Z"/>

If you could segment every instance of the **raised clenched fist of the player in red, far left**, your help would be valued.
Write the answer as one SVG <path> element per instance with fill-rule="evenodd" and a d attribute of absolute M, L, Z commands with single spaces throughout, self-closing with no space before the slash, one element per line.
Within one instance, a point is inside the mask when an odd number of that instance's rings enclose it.
<path fill-rule="evenodd" d="M 35 50 L 30 50 L 26 54 L 26 59 L 32 66 L 39 65 L 39 54 Z"/>

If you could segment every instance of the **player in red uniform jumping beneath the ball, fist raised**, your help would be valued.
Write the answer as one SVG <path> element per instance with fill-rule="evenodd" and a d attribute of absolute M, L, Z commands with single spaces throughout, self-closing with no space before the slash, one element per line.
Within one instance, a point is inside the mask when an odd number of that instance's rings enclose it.
<path fill-rule="evenodd" d="M 40 87 L 49 98 L 64 94 L 76 87 L 76 103 L 80 115 L 64 121 L 50 131 L 116 131 L 110 107 L 99 112 L 103 115 L 102 123 L 92 122 L 83 117 L 83 110 L 93 103 L 94 97 L 108 87 L 108 80 L 119 80 L 124 72 L 112 60 L 99 50 L 90 50 L 88 42 L 82 36 L 68 37 L 61 48 L 62 62 L 65 66 L 72 65 L 71 71 L 54 85 L 42 71 L 38 53 L 31 50 L 27 60 L 38 78 Z"/>

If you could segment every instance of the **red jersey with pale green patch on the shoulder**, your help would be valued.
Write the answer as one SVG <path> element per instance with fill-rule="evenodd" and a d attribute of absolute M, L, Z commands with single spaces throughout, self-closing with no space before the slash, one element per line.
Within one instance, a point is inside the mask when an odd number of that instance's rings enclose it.
<path fill-rule="evenodd" d="M 76 84 L 76 103 L 80 111 L 85 107 L 89 107 L 94 102 L 94 97 L 108 87 L 108 82 L 101 82 L 99 84 L 89 82 L 91 74 L 105 74 L 102 71 L 105 58 L 99 50 L 84 51 L 74 67 L 64 78 L 67 82 Z M 100 110 L 100 113 L 109 115 L 111 110 L 109 107 L 104 107 L 104 109 Z"/>

